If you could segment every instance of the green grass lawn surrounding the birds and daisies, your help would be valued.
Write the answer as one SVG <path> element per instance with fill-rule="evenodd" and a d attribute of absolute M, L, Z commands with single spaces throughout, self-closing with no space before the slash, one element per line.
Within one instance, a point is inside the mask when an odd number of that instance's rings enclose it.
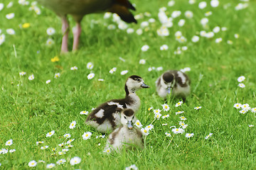
<path fill-rule="evenodd" d="M 31 169 L 28 166 L 31 160 L 46 162 L 38 163 L 33 169 L 46 169 L 46 164 L 61 158 L 67 162 L 62 166 L 56 164 L 55 169 L 124 169 L 132 164 L 139 169 L 256 169 L 256 130 L 248 127 L 256 125 L 255 114 L 248 112 L 243 115 L 233 108 L 235 103 L 249 103 L 252 108 L 256 107 L 256 3 L 250 1 L 247 8 L 235 11 L 238 1 L 220 1 L 217 8 L 212 8 L 207 1 L 208 6 L 204 9 L 198 8 L 198 2 L 191 5 L 185 0 L 176 1 L 170 7 L 167 0 L 134 1 L 137 4 L 134 14 L 148 11 L 151 18 L 156 19 L 142 35 L 127 34 L 126 30 L 118 28 L 108 30 L 107 26 L 115 23 L 103 19 L 103 14 L 85 16 L 80 50 L 59 55 L 62 33 L 60 19 L 55 13 L 41 8 L 41 15 L 36 15 L 34 11 L 28 11 L 29 6 L 21 6 L 17 1 L 11 8 L 6 8 L 9 1 L 4 0 L 4 9 L 0 11 L 1 34 L 6 35 L 5 42 L 0 45 L 0 149 L 16 149 L 16 152 L 0 154 L 0 169 Z M 227 4 L 228 8 L 224 8 Z M 168 16 L 174 10 L 182 13 L 174 19 L 168 37 L 156 33 L 161 26 L 157 15 L 162 6 L 166 6 Z M 193 11 L 191 19 L 184 17 L 188 10 Z M 204 29 L 200 21 L 206 11 L 212 11 L 213 15 L 208 16 L 208 28 Z M 7 20 L 5 16 L 11 12 L 15 17 Z M 181 18 L 186 19 L 186 23 L 180 28 L 177 23 Z M 149 17 L 144 16 L 137 25 L 130 24 L 129 28 L 137 30 L 142 21 L 148 20 Z M 19 28 L 18 25 L 23 23 L 31 26 Z M 71 17 L 70 24 L 75 25 Z M 201 30 L 209 32 L 215 26 L 228 30 L 220 31 L 211 39 L 200 37 L 199 42 L 191 42 L 193 35 Z M 46 29 L 49 27 L 56 30 L 51 36 L 55 41 L 52 47 L 46 47 L 49 38 Z M 16 35 L 6 34 L 7 28 L 14 28 Z M 181 30 L 187 42 L 181 44 L 175 40 L 177 30 Z M 238 39 L 234 38 L 235 33 L 240 35 Z M 72 38 L 70 33 L 70 49 Z M 215 38 L 223 38 L 223 41 L 215 43 Z M 232 40 L 233 45 L 228 45 L 227 40 Z M 169 49 L 159 50 L 164 44 Z M 149 50 L 142 52 L 143 45 L 149 45 Z M 174 55 L 177 47 L 182 46 L 187 46 L 188 50 Z M 60 61 L 51 62 L 56 55 Z M 145 59 L 146 64 L 139 64 L 140 59 Z M 87 62 L 94 64 L 92 70 L 86 68 Z M 78 70 L 70 70 L 73 66 Z M 117 67 L 117 72 L 110 74 L 113 67 Z M 163 67 L 164 70 L 190 67 L 191 72 L 187 74 L 191 79 L 191 96 L 179 108 L 175 107 L 179 99 L 168 103 L 170 117 L 154 121 L 154 130 L 146 136 L 144 150 L 104 154 L 107 139 L 96 139 L 100 132 L 85 125 L 86 115 L 80 115 L 80 111 L 91 111 L 102 102 L 122 98 L 125 80 L 129 75 L 137 74 L 151 86 L 137 92 L 142 101 L 137 118 L 142 125 L 149 125 L 154 120 L 154 113 L 147 108 L 161 109 L 164 104 L 154 85 L 164 71 L 149 72 L 149 67 Z M 119 74 L 126 69 L 128 74 Z M 26 75 L 19 76 L 21 71 Z M 60 78 L 54 79 L 57 72 L 60 72 Z M 95 73 L 95 77 L 88 80 L 90 72 Z M 31 74 L 35 77 L 33 81 L 28 80 Z M 201 74 L 203 78 L 199 81 Z M 242 75 L 246 77 L 243 82 L 245 89 L 238 87 L 237 79 Z M 101 78 L 105 81 L 97 81 Z M 46 84 L 48 79 L 50 84 Z M 202 106 L 201 110 L 196 111 L 196 106 Z M 195 134 L 190 139 L 186 139 L 185 134 L 171 132 L 171 125 L 178 126 L 176 111 L 184 111 L 185 123 L 188 124 L 186 132 Z M 70 130 L 73 120 L 77 125 Z M 162 126 L 162 123 L 168 125 Z M 51 130 L 55 130 L 55 135 L 46 138 L 46 133 Z M 82 134 L 87 131 L 92 132 L 91 139 L 82 140 Z M 165 132 L 170 132 L 172 137 L 166 137 Z M 213 136 L 205 140 L 210 132 Z M 58 144 L 65 141 L 65 133 L 75 138 L 74 147 L 67 154 L 50 156 L 53 147 L 60 151 Z M 14 144 L 6 146 L 5 142 L 10 139 Z M 48 145 L 49 148 L 41 150 L 37 141 L 44 141 L 41 146 Z M 69 161 L 75 156 L 82 162 L 70 166 Z"/>

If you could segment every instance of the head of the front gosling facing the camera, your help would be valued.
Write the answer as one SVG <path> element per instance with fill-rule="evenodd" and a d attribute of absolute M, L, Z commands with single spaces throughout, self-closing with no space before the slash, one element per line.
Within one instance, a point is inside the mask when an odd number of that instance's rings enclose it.
<path fill-rule="evenodd" d="M 127 126 L 128 129 L 132 130 L 135 120 L 134 111 L 131 108 L 126 108 L 121 113 L 121 123 Z"/>

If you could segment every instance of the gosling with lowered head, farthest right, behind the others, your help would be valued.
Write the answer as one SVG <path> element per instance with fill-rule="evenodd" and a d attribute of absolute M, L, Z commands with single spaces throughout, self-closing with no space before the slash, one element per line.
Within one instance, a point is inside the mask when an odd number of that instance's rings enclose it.
<path fill-rule="evenodd" d="M 156 80 L 156 91 L 161 98 L 165 98 L 168 94 L 176 98 L 182 98 L 183 102 L 191 91 L 191 81 L 188 76 L 178 70 L 169 70 L 161 74 Z"/>

